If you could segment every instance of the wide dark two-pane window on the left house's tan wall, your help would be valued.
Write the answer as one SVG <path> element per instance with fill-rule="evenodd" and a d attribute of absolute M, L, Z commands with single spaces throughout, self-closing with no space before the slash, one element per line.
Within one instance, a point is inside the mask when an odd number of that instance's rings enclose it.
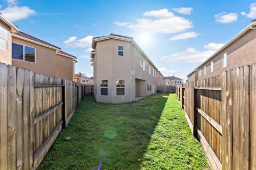
<path fill-rule="evenodd" d="M 12 43 L 12 59 L 35 63 L 36 49 L 33 47 Z"/>

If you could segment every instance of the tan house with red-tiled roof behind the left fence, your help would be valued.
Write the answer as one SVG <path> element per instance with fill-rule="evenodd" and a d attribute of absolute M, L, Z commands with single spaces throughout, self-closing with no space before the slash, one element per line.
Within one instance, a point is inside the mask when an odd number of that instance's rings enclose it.
<path fill-rule="evenodd" d="M 19 31 L 0 14 L 0 62 L 73 80 L 75 59 L 60 47 Z"/>

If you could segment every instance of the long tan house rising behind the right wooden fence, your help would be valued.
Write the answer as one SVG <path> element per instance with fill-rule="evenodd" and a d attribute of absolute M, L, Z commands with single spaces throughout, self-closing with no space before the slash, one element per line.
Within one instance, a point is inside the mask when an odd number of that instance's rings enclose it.
<path fill-rule="evenodd" d="M 227 44 L 222 46 L 205 62 L 199 65 L 196 68 L 198 71 L 198 78 L 191 79 L 188 77 L 188 82 L 213 77 L 215 75 L 220 75 L 224 71 L 255 63 L 255 29 L 256 21 L 253 20 L 246 28 L 229 40 Z"/>

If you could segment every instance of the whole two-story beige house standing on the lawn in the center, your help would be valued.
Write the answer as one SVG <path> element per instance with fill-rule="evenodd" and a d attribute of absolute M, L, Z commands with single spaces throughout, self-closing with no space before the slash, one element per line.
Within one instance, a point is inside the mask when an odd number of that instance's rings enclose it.
<path fill-rule="evenodd" d="M 127 103 L 154 94 L 157 67 L 132 37 L 94 37 L 94 97 L 101 103 Z"/>

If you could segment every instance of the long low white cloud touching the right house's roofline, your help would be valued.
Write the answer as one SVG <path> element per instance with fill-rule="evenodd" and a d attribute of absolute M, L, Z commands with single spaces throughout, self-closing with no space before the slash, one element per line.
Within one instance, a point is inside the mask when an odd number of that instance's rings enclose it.
<path fill-rule="evenodd" d="M 161 57 L 162 60 L 166 60 L 167 62 L 177 62 L 183 61 L 188 63 L 199 63 L 209 58 L 213 53 L 215 53 L 220 47 L 224 44 L 217 43 L 209 43 L 204 45 L 206 50 L 199 51 L 195 48 L 187 48 L 185 52 L 174 53 L 171 55 L 166 55 Z"/>

